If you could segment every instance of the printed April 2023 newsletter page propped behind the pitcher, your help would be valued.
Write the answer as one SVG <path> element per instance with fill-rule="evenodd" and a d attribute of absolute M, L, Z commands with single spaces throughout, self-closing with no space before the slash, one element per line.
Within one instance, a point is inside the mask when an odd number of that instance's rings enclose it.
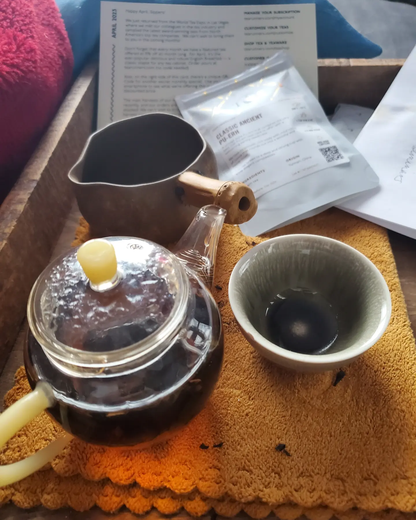
<path fill-rule="evenodd" d="M 149 112 L 284 49 L 317 94 L 315 5 L 101 2 L 98 127 Z"/>

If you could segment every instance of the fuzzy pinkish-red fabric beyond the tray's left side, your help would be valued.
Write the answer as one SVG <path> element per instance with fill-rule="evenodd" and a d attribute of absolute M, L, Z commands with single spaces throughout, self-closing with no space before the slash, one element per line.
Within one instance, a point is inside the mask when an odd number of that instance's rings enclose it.
<path fill-rule="evenodd" d="M 72 68 L 54 0 L 0 0 L 0 202 L 55 115 Z"/>

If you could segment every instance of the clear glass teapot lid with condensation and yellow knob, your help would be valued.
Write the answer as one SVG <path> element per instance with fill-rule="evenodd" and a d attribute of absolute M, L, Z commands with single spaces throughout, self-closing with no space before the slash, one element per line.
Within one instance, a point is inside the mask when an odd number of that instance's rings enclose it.
<path fill-rule="evenodd" d="M 162 246 L 129 237 L 90 240 L 42 272 L 29 297 L 28 320 L 54 357 L 106 353 L 111 362 L 115 350 L 119 358 L 121 348 L 146 338 L 149 347 L 174 334 L 188 293 L 184 267 Z"/>

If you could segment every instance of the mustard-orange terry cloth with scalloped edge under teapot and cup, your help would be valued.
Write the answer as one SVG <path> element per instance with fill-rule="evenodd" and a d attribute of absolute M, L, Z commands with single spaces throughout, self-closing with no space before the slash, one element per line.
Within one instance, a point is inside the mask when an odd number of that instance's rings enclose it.
<path fill-rule="evenodd" d="M 286 233 L 342 240 L 367 255 L 388 283 L 393 313 L 387 331 L 349 367 L 324 374 L 290 373 L 259 356 L 238 330 L 227 298 L 231 270 L 253 242 Z M 85 225 L 77 236 L 89 238 Z M 226 226 L 214 284 L 224 323 L 225 361 L 216 391 L 198 417 L 172 440 L 142 451 L 74 439 L 51 463 L 54 471 L 44 473 L 51 475 L 49 483 L 42 484 L 38 473 L 3 490 L 0 499 L 48 505 L 48 497 L 60 492 L 55 507 L 74 507 L 75 502 L 76 509 L 88 509 L 96 495 L 67 484 L 82 482 L 85 489 L 102 489 L 105 499 L 94 500 L 106 510 L 122 503 L 136 510 L 132 497 L 140 490 L 155 493 L 158 500 L 163 493 L 173 492 L 169 500 L 193 493 L 220 514 L 244 509 L 260 517 L 272 509 L 287 520 L 304 508 L 311 520 L 328 520 L 332 511 L 326 508 L 354 520 L 363 516 L 361 510 L 366 518 L 386 509 L 391 511 L 383 518 L 416 511 L 416 350 L 386 231 L 335 209 L 262 238 L 248 238 L 237 227 Z M 21 369 L 6 405 L 28 391 Z M 9 441 L 0 462 L 20 460 L 59 435 L 60 428 L 42 414 Z M 45 485 L 50 486 L 47 492 Z M 232 503 L 235 512 L 223 512 L 218 504 L 224 503 Z M 293 514 L 284 516 L 283 505 Z"/>

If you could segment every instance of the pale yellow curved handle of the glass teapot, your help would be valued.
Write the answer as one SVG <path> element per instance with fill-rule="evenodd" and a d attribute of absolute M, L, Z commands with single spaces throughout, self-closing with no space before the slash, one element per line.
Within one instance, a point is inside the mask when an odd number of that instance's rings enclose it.
<path fill-rule="evenodd" d="M 33 392 L 19 399 L 0 414 L 0 448 L 20 428 L 54 404 L 54 397 L 46 383 L 38 383 Z M 72 436 L 65 434 L 27 459 L 0 466 L 0 487 L 25 478 L 53 460 L 69 443 Z"/>

